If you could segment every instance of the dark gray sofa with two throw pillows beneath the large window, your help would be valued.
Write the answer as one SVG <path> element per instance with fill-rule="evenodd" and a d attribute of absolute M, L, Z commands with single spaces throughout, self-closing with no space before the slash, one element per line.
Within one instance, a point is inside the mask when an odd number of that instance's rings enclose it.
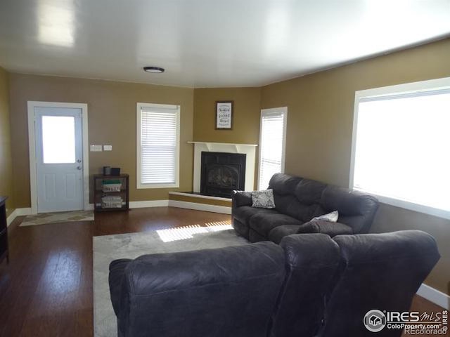
<path fill-rule="evenodd" d="M 271 178 L 269 189 L 274 190 L 275 209 L 252 207 L 251 192 L 231 195 L 233 227 L 250 242 L 278 244 L 287 235 L 301 233 L 367 233 L 378 209 L 378 200 L 370 195 L 283 173 Z M 332 211 L 339 211 L 337 223 L 311 221 Z"/>

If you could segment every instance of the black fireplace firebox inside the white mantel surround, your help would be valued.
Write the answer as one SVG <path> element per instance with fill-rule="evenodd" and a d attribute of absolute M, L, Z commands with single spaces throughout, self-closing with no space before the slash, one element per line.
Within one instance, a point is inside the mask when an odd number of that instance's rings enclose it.
<path fill-rule="evenodd" d="M 200 193 L 231 197 L 232 190 L 245 190 L 246 154 L 202 152 Z"/>

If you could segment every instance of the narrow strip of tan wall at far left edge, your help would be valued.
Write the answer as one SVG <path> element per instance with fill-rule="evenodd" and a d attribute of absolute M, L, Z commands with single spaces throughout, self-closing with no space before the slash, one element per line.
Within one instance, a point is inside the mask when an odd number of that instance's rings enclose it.
<path fill-rule="evenodd" d="M 9 111 L 8 72 L 0 67 L 0 195 L 8 196 L 6 201 L 8 216 L 15 208 Z"/>

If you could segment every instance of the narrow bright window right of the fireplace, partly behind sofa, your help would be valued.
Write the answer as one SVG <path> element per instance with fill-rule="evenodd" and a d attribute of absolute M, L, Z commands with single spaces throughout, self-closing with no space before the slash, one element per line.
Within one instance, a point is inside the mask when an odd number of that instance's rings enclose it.
<path fill-rule="evenodd" d="M 265 190 L 270 178 L 284 171 L 287 114 L 286 107 L 261 112 L 258 190 Z"/>

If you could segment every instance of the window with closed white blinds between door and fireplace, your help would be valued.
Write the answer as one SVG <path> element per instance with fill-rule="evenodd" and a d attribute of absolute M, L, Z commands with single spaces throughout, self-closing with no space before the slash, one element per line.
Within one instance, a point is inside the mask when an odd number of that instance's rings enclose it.
<path fill-rule="evenodd" d="M 137 188 L 179 187 L 178 105 L 137 104 Z"/>

